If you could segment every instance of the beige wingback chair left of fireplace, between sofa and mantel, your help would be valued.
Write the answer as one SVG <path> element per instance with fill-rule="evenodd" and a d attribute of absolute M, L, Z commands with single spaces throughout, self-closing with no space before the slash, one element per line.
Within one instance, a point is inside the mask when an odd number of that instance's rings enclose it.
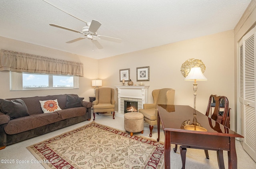
<path fill-rule="evenodd" d="M 115 103 L 114 88 L 102 87 L 96 88 L 95 100 L 93 104 L 93 120 L 95 120 L 95 113 L 113 112 L 113 119 L 115 119 Z"/>

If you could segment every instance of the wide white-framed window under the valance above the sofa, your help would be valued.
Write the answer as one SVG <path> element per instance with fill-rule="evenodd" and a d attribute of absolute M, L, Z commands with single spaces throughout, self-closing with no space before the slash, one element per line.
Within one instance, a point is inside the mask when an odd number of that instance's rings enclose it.
<path fill-rule="evenodd" d="M 40 73 L 10 72 L 10 90 L 79 88 L 79 77 Z"/>

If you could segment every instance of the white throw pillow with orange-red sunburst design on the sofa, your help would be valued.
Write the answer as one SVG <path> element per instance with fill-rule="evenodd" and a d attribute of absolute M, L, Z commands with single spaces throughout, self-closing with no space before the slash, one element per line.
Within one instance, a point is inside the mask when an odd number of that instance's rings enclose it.
<path fill-rule="evenodd" d="M 41 108 L 44 113 L 52 113 L 52 112 L 61 110 L 57 99 L 56 100 L 44 100 L 44 101 L 39 100 L 39 102 L 41 104 Z"/>

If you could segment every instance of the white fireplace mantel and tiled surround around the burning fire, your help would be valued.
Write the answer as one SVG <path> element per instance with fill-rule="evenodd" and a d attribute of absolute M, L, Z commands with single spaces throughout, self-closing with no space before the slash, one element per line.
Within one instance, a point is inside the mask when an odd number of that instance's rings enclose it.
<path fill-rule="evenodd" d="M 137 101 L 138 109 L 148 103 L 149 86 L 116 86 L 118 90 L 118 113 L 124 114 L 124 100 Z"/>

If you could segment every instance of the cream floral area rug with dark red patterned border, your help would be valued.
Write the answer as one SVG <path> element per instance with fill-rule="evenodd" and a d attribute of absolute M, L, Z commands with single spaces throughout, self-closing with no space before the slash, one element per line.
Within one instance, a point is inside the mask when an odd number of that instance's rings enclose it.
<path fill-rule="evenodd" d="M 96 122 L 27 149 L 46 169 L 160 169 L 164 144 Z"/>

